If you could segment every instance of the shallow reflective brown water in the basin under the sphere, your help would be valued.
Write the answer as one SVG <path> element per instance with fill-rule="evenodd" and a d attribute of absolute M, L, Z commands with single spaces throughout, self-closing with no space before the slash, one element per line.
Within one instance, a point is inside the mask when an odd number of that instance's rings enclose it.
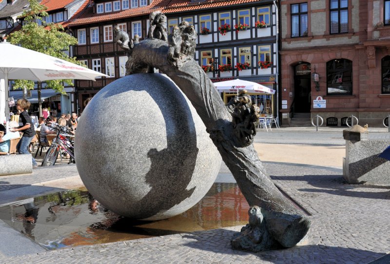
<path fill-rule="evenodd" d="M 245 225 L 248 209 L 235 183 L 214 183 L 191 209 L 160 221 L 135 221 L 118 216 L 101 206 L 85 189 L 0 206 L 0 219 L 39 244 L 55 249 Z"/>

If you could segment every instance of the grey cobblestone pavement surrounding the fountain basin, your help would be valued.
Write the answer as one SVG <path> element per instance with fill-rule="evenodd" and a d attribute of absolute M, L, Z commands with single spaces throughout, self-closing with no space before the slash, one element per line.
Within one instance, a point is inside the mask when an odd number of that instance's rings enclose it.
<path fill-rule="evenodd" d="M 260 253 L 232 250 L 230 239 L 241 228 L 234 226 L 46 251 L 3 258 L 1 263 L 364 264 L 390 252 L 390 186 L 346 184 L 338 168 L 280 162 L 265 166 L 274 182 L 312 214 L 309 233 L 292 248 Z M 58 166 L 56 174 L 73 167 Z M 226 166 L 220 174 L 229 174 Z M 14 179 L 1 178 L 10 184 Z"/>

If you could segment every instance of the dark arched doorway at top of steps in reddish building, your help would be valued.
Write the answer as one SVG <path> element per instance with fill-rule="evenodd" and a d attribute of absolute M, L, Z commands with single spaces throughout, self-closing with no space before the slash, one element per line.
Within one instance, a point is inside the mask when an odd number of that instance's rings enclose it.
<path fill-rule="evenodd" d="M 294 71 L 294 112 L 310 113 L 311 106 L 311 64 L 299 63 Z"/>

